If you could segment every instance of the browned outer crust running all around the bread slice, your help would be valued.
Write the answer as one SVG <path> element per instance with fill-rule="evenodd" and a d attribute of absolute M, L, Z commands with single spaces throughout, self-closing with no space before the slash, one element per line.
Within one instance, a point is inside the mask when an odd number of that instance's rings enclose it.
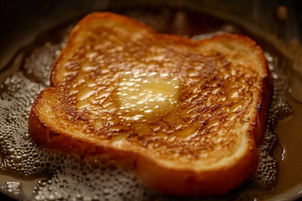
<path fill-rule="evenodd" d="M 93 13 L 89 14 L 87 17 L 83 18 L 76 27 L 72 30 L 66 47 L 62 50 L 61 54 L 56 58 L 52 72 L 51 72 L 51 82 L 52 85 L 55 84 L 55 74 L 56 66 L 62 59 L 62 55 L 66 54 L 70 47 L 72 46 L 72 40 L 76 37 L 77 33 L 82 26 L 85 26 L 91 19 L 95 18 L 110 18 L 114 20 L 121 20 L 131 26 L 139 26 L 143 29 L 148 29 L 146 25 L 141 24 L 135 20 L 128 17 L 112 14 L 112 13 Z M 150 33 L 155 33 L 155 31 L 150 30 Z M 258 54 L 258 57 L 262 63 L 262 74 L 261 86 L 258 94 L 257 107 L 253 111 L 251 122 L 254 124 L 250 125 L 248 144 L 249 149 L 247 153 L 240 159 L 236 160 L 236 163 L 226 164 L 220 169 L 213 169 L 210 171 L 195 171 L 193 169 L 179 170 L 177 168 L 168 168 L 159 164 L 156 160 L 144 155 L 141 152 L 129 152 L 121 151 L 120 149 L 114 149 L 112 147 L 95 146 L 87 140 L 81 140 L 74 138 L 72 136 L 64 135 L 64 131 L 56 132 L 52 131 L 49 125 L 43 125 L 43 121 L 38 117 L 36 110 L 42 105 L 39 104 L 39 99 L 43 93 L 47 93 L 47 89 L 43 90 L 35 99 L 34 105 L 31 109 L 29 116 L 29 131 L 34 142 L 38 144 L 43 144 L 44 146 L 50 148 L 61 149 L 64 152 L 74 153 L 75 150 L 79 150 L 79 153 L 85 154 L 98 154 L 98 153 L 115 153 L 114 158 L 119 160 L 126 157 L 127 161 L 124 167 L 133 168 L 137 176 L 143 181 L 143 183 L 155 189 L 161 193 L 173 194 L 173 195 L 215 195 L 223 194 L 229 190 L 234 189 L 236 186 L 241 184 L 243 181 L 252 177 L 252 175 L 257 170 L 259 165 L 259 154 L 256 146 L 259 146 L 263 139 L 263 133 L 266 127 L 268 105 L 270 99 L 270 91 L 272 87 L 272 80 L 270 72 L 268 70 L 267 61 L 263 55 L 263 51 L 256 43 L 246 36 L 239 35 L 218 35 L 211 39 L 205 39 L 202 41 L 192 42 L 189 39 L 182 38 L 179 36 L 172 36 L 166 34 L 156 34 L 155 37 L 159 40 L 172 40 L 177 43 L 182 43 L 187 46 L 201 45 L 202 43 L 212 42 L 213 40 L 220 39 L 232 39 L 237 41 L 242 41 L 249 45 Z M 52 139 L 52 136 L 60 135 L 60 142 Z M 72 145 L 75 149 L 65 149 L 64 144 Z M 70 146 L 69 146 L 70 147 Z M 123 163 L 122 163 L 123 165 Z"/>

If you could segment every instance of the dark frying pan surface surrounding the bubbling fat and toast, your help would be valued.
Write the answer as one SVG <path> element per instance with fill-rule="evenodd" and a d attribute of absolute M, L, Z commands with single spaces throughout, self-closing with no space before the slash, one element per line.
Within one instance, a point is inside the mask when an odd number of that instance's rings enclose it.
<path fill-rule="evenodd" d="M 275 159 L 279 161 L 277 181 L 272 187 L 269 187 L 269 190 L 259 190 L 263 195 L 268 195 L 258 197 L 258 199 L 255 197 L 254 200 L 297 200 L 302 197 L 302 155 L 300 154 L 302 149 L 302 117 L 300 115 L 302 112 L 301 6 L 302 2 L 298 0 L 1 1 L 0 81 L 5 82 L 7 77 L 13 75 L 13 72 L 24 68 L 26 64 L 24 58 L 27 52 L 30 55 L 37 46 L 43 45 L 48 39 L 53 40 L 53 35 L 56 34 L 56 31 L 63 30 L 66 27 L 66 23 L 75 24 L 85 14 L 93 11 L 114 11 L 127 14 L 128 10 L 143 9 L 144 12 L 151 14 L 168 13 L 171 18 L 169 18 L 169 23 L 172 24 L 172 27 L 175 16 L 178 16 L 179 13 L 185 14 L 186 23 L 182 29 L 176 29 L 173 33 L 190 37 L 205 34 L 207 30 L 216 31 L 219 29 L 218 27 L 224 27 L 226 31 L 231 29 L 230 32 L 246 34 L 255 39 L 265 51 L 270 52 L 273 55 L 271 58 L 278 58 L 278 61 L 276 61 L 278 63 L 277 67 L 280 68 L 282 75 L 285 76 L 283 78 L 286 86 L 284 87 L 284 94 L 292 108 L 291 114 L 280 118 L 274 129 L 274 132 L 278 135 L 278 143 L 276 143 L 272 153 Z M 142 14 L 142 12 L 134 13 Z M 199 15 L 199 13 L 201 14 Z M 160 25 L 156 21 L 153 25 L 159 32 L 169 32 L 166 28 L 170 26 L 169 23 L 163 23 L 162 26 L 156 27 L 156 25 Z M 194 25 L 193 28 L 192 24 Z M 49 30 L 54 31 L 49 32 Z M 17 64 L 16 58 L 20 60 Z M 33 82 L 43 83 L 47 80 L 45 78 L 43 81 L 43 76 L 40 77 L 40 80 L 31 78 Z M 47 83 L 43 84 L 47 85 Z M 1 92 L 3 92 L 3 88 L 0 88 Z M 1 104 L 3 104 L 3 101 L 0 101 Z M 9 113 L 9 110 L 7 112 Z M 26 127 L 23 126 L 23 129 L 26 130 Z M 1 130 L 1 132 L 4 131 Z M 3 159 L 7 157 L 5 154 L 2 154 L 2 156 Z M 0 171 L 0 174 L 6 173 L 5 171 Z M 0 176 L 0 185 L 11 181 L 22 183 L 24 178 L 20 179 L 19 176 L 17 174 Z M 29 181 L 26 179 L 24 180 L 26 182 L 23 182 L 23 190 L 27 184 L 30 186 Z M 37 183 L 35 179 L 34 182 Z M 17 185 L 18 182 L 15 184 Z M 245 186 L 243 188 L 249 189 L 250 187 Z M 35 190 L 37 191 L 37 189 Z M 16 196 L 14 192 L 3 190 L 3 188 L 1 193 L 4 193 L 0 194 L 1 200 L 10 199 L 5 194 L 14 197 L 14 199 L 24 199 Z M 174 199 L 179 200 L 178 198 Z M 230 200 L 229 197 L 219 199 Z M 238 198 L 238 200 L 241 199 Z"/>

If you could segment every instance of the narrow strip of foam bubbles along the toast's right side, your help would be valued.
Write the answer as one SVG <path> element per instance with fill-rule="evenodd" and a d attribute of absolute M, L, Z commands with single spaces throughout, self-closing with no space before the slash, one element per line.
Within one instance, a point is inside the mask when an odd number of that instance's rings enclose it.
<path fill-rule="evenodd" d="M 277 63 L 270 53 L 265 52 L 269 64 Z M 268 124 L 266 126 L 264 141 L 259 147 L 260 164 L 255 174 L 255 182 L 262 186 L 268 187 L 276 183 L 278 177 L 278 161 L 274 158 L 273 150 L 278 144 L 278 135 L 274 132 L 274 128 L 278 119 L 288 117 L 292 113 L 291 106 L 288 104 L 287 97 L 284 92 L 288 91 L 286 85 L 287 78 L 278 68 L 273 68 L 273 74 L 278 74 L 274 78 L 274 89 L 271 100 L 271 107 L 268 114 Z"/>

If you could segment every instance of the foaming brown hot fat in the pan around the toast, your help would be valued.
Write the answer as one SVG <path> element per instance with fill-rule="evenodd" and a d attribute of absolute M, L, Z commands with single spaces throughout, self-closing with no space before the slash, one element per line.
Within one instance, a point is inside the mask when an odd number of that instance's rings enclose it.
<path fill-rule="evenodd" d="M 140 10 L 127 11 L 124 14 L 145 22 L 158 32 L 191 37 L 193 40 L 223 32 L 249 35 L 237 26 L 200 13 L 171 10 L 152 13 Z M 11 177 L 0 176 L 1 181 L 8 181 L 6 184 L 1 184 L 3 186 L 0 187 L 0 191 L 17 199 L 25 199 L 34 190 L 31 198 L 36 200 L 182 200 L 163 196 L 147 189 L 137 181 L 132 172 L 118 168 L 114 161 L 106 156 L 98 159 L 80 159 L 77 156 L 63 155 L 59 151 L 43 149 L 31 141 L 27 125 L 29 111 L 37 94 L 49 85 L 51 65 L 65 46 L 71 29 L 72 26 L 66 29 L 60 27 L 39 37 L 36 42 L 24 50 L 24 54 L 27 56 L 24 61 L 15 59 L 16 61 L 12 62 L 12 64 L 18 64 L 19 61 L 21 71 L 6 78 L 1 84 L 0 146 L 3 157 L 0 174 Z M 59 34 L 53 37 L 53 33 Z M 278 189 L 280 186 L 280 184 L 276 186 L 279 172 L 277 160 L 284 157 L 284 150 L 282 149 L 278 153 L 280 157 L 275 159 L 273 150 L 276 146 L 279 149 L 281 146 L 278 145 L 278 135 L 274 129 L 278 120 L 284 119 L 292 113 L 286 93 L 288 80 L 283 73 L 289 63 L 265 41 L 254 35 L 251 37 L 256 39 L 266 51 L 265 56 L 269 62 L 275 86 L 265 138 L 259 147 L 261 157 L 259 170 L 252 181 L 243 184 L 240 189 L 229 195 L 192 198 L 192 200 L 260 200 L 273 195 L 273 193 L 267 195 L 272 187 Z M 42 41 L 44 45 L 39 46 Z M 22 58 L 22 54 L 19 54 L 19 57 Z M 302 107 L 293 103 L 294 112 L 296 109 L 302 111 Z M 288 122 L 286 123 L 288 125 Z M 281 133 L 288 134 L 284 130 Z M 279 138 L 282 139 L 281 135 Z M 282 164 L 283 161 L 280 163 L 281 167 Z M 283 169 L 281 172 L 287 174 Z M 46 177 L 48 179 L 39 181 L 35 189 L 27 188 L 28 192 L 25 192 L 25 187 L 34 186 L 37 178 Z"/>

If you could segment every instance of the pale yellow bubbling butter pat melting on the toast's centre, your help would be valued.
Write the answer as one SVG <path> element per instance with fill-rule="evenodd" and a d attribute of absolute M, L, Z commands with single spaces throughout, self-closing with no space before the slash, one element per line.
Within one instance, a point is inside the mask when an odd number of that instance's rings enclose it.
<path fill-rule="evenodd" d="M 133 127 L 154 122 L 178 108 L 180 93 L 180 80 L 170 74 L 127 71 L 115 94 L 117 120 Z"/>

